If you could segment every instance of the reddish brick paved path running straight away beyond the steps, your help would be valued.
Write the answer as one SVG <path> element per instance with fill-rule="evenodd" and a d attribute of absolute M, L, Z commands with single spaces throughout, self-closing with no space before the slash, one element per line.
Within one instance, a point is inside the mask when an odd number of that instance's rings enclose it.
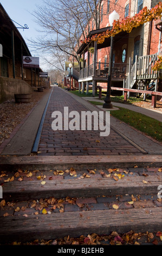
<path fill-rule="evenodd" d="M 51 124 L 54 118 L 51 114 L 60 111 L 63 115 L 64 107 L 69 112 L 88 111 L 85 106 L 77 102 L 72 96 L 58 87 L 54 87 L 50 97 L 42 135 L 38 147 L 38 155 L 134 155 L 141 154 L 140 150 L 121 137 L 113 129 L 109 136 L 101 137 L 97 131 L 54 131 Z M 93 123 L 93 122 L 92 122 Z"/>

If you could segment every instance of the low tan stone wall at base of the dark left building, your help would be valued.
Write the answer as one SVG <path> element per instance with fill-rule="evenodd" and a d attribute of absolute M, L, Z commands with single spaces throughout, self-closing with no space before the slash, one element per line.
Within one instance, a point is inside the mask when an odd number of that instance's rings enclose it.
<path fill-rule="evenodd" d="M 31 92 L 33 88 L 23 80 L 0 77 L 0 103 L 14 99 L 14 94 Z"/>

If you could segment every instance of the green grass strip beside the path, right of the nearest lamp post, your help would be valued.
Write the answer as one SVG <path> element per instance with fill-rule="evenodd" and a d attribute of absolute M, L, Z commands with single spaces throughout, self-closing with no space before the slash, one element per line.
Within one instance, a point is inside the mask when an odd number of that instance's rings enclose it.
<path fill-rule="evenodd" d="M 89 101 L 94 105 L 103 105 L 102 102 Z M 157 141 L 162 142 L 162 123 L 147 115 L 134 112 L 127 108 L 118 107 L 119 110 L 111 111 L 113 117 L 125 122 L 126 124 L 134 127 L 135 129 L 144 132 L 146 135 L 151 136 Z"/>

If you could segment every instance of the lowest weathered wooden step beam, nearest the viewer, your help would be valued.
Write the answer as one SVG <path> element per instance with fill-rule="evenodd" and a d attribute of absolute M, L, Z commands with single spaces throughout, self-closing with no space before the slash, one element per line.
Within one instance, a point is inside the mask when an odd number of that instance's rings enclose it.
<path fill-rule="evenodd" d="M 62 212 L 28 217 L 8 216 L 0 218 L 0 227 L 1 243 L 56 239 L 67 235 L 79 237 L 92 233 L 103 235 L 112 231 L 118 231 L 118 233 L 130 230 L 137 233 L 152 232 L 161 229 L 161 209 L 141 208 Z"/>

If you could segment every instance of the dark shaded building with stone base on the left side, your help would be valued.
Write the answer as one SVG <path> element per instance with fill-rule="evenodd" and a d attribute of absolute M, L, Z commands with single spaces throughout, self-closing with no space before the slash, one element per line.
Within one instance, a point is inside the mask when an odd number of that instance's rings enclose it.
<path fill-rule="evenodd" d="M 23 57 L 31 57 L 31 53 L 1 3 L 0 25 L 0 102 L 3 102 L 14 94 L 32 92 L 46 78 L 39 77 L 42 71 L 39 66 L 32 69 L 23 65 Z"/>

